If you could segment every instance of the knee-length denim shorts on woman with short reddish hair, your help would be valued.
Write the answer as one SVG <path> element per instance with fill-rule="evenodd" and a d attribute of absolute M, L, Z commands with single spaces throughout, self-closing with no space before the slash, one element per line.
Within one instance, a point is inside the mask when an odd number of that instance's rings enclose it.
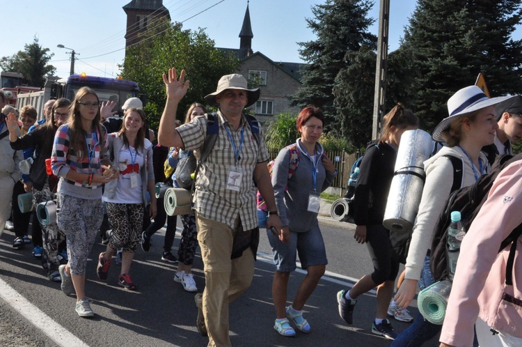
<path fill-rule="evenodd" d="M 292 272 L 296 269 L 296 256 L 299 253 L 301 268 L 306 269 L 309 265 L 326 265 L 326 249 L 324 240 L 316 225 L 305 233 L 294 233 L 290 231 L 290 242 L 283 243 L 278 236 L 274 236 L 267 230 L 268 240 L 274 253 L 274 265 L 280 272 Z"/>

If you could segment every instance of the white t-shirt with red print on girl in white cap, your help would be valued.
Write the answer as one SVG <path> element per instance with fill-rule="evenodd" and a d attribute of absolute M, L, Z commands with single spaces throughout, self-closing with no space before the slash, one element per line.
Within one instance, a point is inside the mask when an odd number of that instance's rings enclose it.
<path fill-rule="evenodd" d="M 106 202 L 111 203 L 143 203 L 143 192 L 141 185 L 140 169 L 145 165 L 145 157 L 143 157 L 143 149 L 136 153 L 136 149 L 132 146 L 122 146 L 120 149 L 120 162 L 117 163 L 120 169 L 118 177 L 118 185 L 116 186 L 116 194 L 112 199 L 106 198 Z M 136 176 L 136 187 L 131 185 L 131 176 Z"/>

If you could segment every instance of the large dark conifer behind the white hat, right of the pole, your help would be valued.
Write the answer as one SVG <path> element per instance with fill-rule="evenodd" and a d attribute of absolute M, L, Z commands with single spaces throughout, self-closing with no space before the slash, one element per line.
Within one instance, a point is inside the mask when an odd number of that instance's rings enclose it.
<path fill-rule="evenodd" d="M 404 36 L 418 72 L 408 89 L 426 130 L 448 116 L 446 102 L 484 73 L 492 96 L 522 92 L 520 0 L 419 0 Z"/>

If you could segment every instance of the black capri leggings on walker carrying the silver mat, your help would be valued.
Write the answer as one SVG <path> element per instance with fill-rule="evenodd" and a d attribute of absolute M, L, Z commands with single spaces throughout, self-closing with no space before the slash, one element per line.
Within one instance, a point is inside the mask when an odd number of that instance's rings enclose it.
<path fill-rule="evenodd" d="M 399 262 L 394 261 L 391 256 L 390 231 L 382 225 L 367 225 L 366 241 L 374 268 L 373 282 L 379 285 L 385 281 L 395 281 Z"/>

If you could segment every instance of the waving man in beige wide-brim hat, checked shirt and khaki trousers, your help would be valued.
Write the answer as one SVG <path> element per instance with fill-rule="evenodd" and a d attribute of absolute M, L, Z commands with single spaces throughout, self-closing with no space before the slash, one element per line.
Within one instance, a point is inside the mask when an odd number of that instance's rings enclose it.
<path fill-rule="evenodd" d="M 200 334 L 209 337 L 209 346 L 231 346 L 228 334 L 228 304 L 246 291 L 254 273 L 255 238 L 259 240 L 255 204 L 258 185 L 269 209 L 267 225 L 281 231 L 267 161 L 262 128 L 243 114 L 244 108 L 259 98 L 258 88 L 248 89 L 242 75 L 221 77 L 217 90 L 205 96 L 209 105 L 219 107 L 214 114 L 198 116 L 175 128 L 177 105 L 189 88 L 184 70 L 178 79 L 174 68 L 163 75 L 167 102 L 159 122 L 158 139 L 164 146 L 193 150 L 200 157 L 209 118 L 218 122 L 216 143 L 201 164 L 193 200 L 198 224 L 198 241 L 205 266 L 205 291 L 196 295 Z M 214 123 L 215 124 L 215 123 Z M 258 130 L 257 130 L 258 129 Z M 237 236 L 249 236 L 252 247 L 232 258 Z M 242 248 L 243 249 L 243 248 Z M 234 255 L 236 256 L 236 255 Z"/>

